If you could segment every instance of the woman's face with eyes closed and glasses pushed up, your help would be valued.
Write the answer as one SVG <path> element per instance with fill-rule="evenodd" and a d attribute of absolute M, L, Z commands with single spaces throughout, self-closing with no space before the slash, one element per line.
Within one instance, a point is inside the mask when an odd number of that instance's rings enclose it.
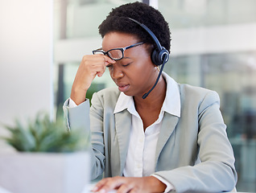
<path fill-rule="evenodd" d="M 110 32 L 102 40 L 102 49 L 109 51 L 139 43 L 134 35 Z M 121 92 L 127 96 L 142 96 L 155 83 L 158 70 L 151 62 L 147 44 L 124 51 L 122 60 L 109 64 L 109 73 Z"/>

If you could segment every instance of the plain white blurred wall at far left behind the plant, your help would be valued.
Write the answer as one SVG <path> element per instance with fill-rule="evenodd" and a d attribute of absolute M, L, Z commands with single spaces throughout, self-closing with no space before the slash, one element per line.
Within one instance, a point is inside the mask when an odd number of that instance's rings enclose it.
<path fill-rule="evenodd" d="M 15 118 L 53 115 L 52 21 L 51 0 L 0 0 L 0 135 Z"/>

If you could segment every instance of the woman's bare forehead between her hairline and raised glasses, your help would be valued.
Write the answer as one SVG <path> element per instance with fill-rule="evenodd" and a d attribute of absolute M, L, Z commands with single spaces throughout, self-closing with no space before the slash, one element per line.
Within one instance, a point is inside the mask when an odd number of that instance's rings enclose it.
<path fill-rule="evenodd" d="M 102 39 L 102 49 L 107 51 L 117 47 L 126 47 L 138 43 L 136 35 L 122 32 L 109 32 Z"/>

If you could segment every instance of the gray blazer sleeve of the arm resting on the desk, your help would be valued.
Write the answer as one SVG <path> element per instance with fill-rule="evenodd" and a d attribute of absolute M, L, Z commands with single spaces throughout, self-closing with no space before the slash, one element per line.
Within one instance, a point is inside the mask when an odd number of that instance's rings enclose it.
<path fill-rule="evenodd" d="M 219 108 L 217 92 L 208 92 L 198 105 L 197 146 L 200 162 L 194 166 L 155 173 L 173 184 L 175 191 L 221 192 L 232 191 L 235 187 L 237 173 L 233 149 Z"/>

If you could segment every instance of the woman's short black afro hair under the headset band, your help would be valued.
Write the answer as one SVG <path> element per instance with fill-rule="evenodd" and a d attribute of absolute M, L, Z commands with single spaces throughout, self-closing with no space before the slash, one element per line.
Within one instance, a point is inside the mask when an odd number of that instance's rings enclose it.
<path fill-rule="evenodd" d="M 142 2 L 127 3 L 112 9 L 99 26 L 101 37 L 103 38 L 109 32 L 118 31 L 136 35 L 140 41 L 155 45 L 151 35 L 129 18 L 134 18 L 139 23 L 146 25 L 159 39 L 161 46 L 170 51 L 171 32 L 168 23 L 159 10 Z"/>

